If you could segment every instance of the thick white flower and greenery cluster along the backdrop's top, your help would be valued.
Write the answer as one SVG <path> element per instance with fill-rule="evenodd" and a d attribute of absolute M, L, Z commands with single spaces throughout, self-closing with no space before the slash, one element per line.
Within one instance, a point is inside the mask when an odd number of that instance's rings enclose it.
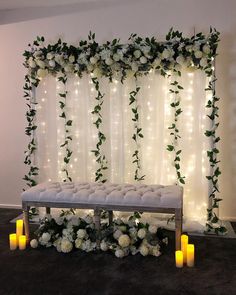
<path fill-rule="evenodd" d="M 79 76 L 93 73 L 95 77 L 105 76 L 110 80 L 116 77 L 123 81 L 152 69 L 164 76 L 168 71 L 181 75 L 181 68 L 187 67 L 203 69 L 210 75 L 218 41 L 219 33 L 212 29 L 208 36 L 198 33 L 191 38 L 171 29 L 165 42 L 132 34 L 126 44 L 114 39 L 99 45 L 91 32 L 88 40 L 81 40 L 79 46 L 68 45 L 60 39 L 44 46 L 44 37 L 38 37 L 29 45 L 30 50 L 24 52 L 25 67 L 35 86 L 49 73 Z"/>

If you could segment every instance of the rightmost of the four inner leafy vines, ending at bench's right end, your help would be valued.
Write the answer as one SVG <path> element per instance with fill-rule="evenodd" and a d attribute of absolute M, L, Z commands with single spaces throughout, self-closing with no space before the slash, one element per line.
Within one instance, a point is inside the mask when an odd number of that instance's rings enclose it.
<path fill-rule="evenodd" d="M 182 151 L 178 149 L 178 140 L 181 138 L 181 136 L 179 135 L 178 120 L 180 114 L 182 113 L 179 93 L 183 89 L 183 87 L 179 84 L 177 80 L 170 83 L 170 86 L 171 87 L 169 89 L 169 92 L 173 95 L 173 100 L 171 101 L 170 106 L 174 111 L 174 122 L 171 124 L 171 126 L 168 127 L 172 139 L 171 144 L 167 145 L 167 150 L 174 153 L 174 167 L 176 171 L 177 183 L 185 184 L 185 176 L 181 174 L 180 170 L 180 154 Z"/>

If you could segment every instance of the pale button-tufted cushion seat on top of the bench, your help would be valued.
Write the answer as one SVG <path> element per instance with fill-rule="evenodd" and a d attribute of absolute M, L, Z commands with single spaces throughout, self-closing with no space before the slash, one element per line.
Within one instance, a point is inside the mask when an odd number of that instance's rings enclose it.
<path fill-rule="evenodd" d="M 150 208 L 182 208 L 183 189 L 177 185 L 65 183 L 38 184 L 22 193 L 23 202 L 99 204 Z"/>

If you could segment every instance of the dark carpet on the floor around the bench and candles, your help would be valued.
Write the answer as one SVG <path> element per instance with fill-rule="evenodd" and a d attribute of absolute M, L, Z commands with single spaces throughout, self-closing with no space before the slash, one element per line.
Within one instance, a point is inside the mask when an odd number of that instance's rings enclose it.
<path fill-rule="evenodd" d="M 117 259 L 107 253 L 57 253 L 55 249 L 10 251 L 9 221 L 20 210 L 0 209 L 0 294 L 230 295 L 236 294 L 236 239 L 190 237 L 196 266 L 177 269 L 174 235 L 159 258 Z M 236 228 L 236 224 L 233 224 Z"/>

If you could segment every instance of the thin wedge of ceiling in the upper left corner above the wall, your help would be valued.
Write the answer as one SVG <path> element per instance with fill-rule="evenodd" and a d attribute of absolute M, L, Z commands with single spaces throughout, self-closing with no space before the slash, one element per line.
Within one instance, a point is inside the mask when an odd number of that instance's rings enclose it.
<path fill-rule="evenodd" d="M 0 11 L 19 8 L 36 8 L 56 5 L 67 5 L 93 1 L 95 0 L 0 0 Z"/>

